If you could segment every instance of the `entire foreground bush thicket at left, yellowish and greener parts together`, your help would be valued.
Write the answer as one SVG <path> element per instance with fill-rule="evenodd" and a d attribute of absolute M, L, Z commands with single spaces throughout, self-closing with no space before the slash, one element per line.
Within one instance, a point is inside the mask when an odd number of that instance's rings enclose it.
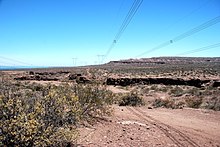
<path fill-rule="evenodd" d="M 68 146 L 77 124 L 109 113 L 111 94 L 98 86 L 16 85 L 0 83 L 0 146 Z"/>

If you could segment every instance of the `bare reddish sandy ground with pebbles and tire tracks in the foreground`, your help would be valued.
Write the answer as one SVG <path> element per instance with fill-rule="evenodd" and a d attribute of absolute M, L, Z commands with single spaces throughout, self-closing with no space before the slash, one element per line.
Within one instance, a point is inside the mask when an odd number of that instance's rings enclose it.
<path fill-rule="evenodd" d="M 107 120 L 79 131 L 85 147 L 219 147 L 220 112 L 114 106 Z"/>

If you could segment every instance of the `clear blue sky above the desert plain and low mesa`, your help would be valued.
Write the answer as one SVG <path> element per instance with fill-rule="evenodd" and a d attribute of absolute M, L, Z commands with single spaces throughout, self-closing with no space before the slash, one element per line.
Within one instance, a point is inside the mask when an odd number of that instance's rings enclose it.
<path fill-rule="evenodd" d="M 0 0 L 0 65 L 101 62 L 133 0 Z M 105 62 L 136 58 L 220 16 L 220 0 L 143 0 Z M 220 23 L 139 58 L 220 43 Z M 184 56 L 219 57 L 220 47 Z M 20 61 L 20 62 L 17 62 Z M 22 63 L 21 63 L 22 62 Z M 24 63 L 23 63 L 24 62 Z"/>

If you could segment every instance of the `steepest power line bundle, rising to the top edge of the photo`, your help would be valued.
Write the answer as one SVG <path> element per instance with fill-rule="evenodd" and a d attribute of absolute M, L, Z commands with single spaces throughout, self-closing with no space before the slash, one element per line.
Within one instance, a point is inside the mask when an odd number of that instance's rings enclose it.
<path fill-rule="evenodd" d="M 115 44 L 118 42 L 118 40 L 120 39 L 120 37 L 122 36 L 122 34 L 124 33 L 125 29 L 127 28 L 127 26 L 130 24 L 132 18 L 134 17 L 134 15 L 136 14 L 137 10 L 139 9 L 139 7 L 141 6 L 143 0 L 135 0 L 129 10 L 129 12 L 127 13 L 118 33 L 115 35 L 115 38 L 113 39 L 113 42 L 110 44 L 105 57 L 103 58 L 103 61 L 105 58 L 107 58 L 107 56 L 109 55 L 109 53 L 111 52 L 111 50 L 114 48 Z M 102 62 L 103 62 L 102 61 Z"/>

